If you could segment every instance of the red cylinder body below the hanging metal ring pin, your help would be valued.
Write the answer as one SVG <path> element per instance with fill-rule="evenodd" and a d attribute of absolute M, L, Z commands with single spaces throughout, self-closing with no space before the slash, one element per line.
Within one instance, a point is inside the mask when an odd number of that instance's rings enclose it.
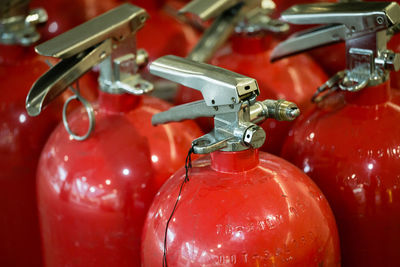
<path fill-rule="evenodd" d="M 140 266 L 151 200 L 201 134 L 191 123 L 151 126 L 151 115 L 169 107 L 152 97 L 101 93 L 89 139 L 71 140 L 61 124 L 53 132 L 38 169 L 46 266 Z M 69 116 L 74 132 L 86 131 L 85 114 Z"/>

